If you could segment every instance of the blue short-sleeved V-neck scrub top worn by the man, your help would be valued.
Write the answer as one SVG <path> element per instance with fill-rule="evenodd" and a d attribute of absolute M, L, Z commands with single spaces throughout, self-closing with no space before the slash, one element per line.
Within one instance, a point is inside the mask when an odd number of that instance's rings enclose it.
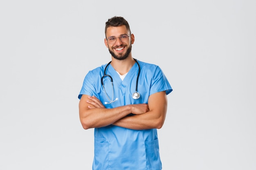
<path fill-rule="evenodd" d="M 114 97 L 117 101 L 111 104 L 113 88 L 109 77 L 101 77 L 107 64 L 89 71 L 85 76 L 78 98 L 83 94 L 94 95 L 106 108 L 115 108 L 128 104 L 148 103 L 148 97 L 154 93 L 166 91 L 166 95 L 173 90 L 161 68 L 137 60 L 140 66 L 137 92 L 139 99 L 133 99 L 135 92 L 138 65 L 135 63 L 122 81 L 115 69 L 108 66 L 106 74 L 113 79 Z M 94 128 L 94 161 L 93 170 L 162 170 L 159 157 L 157 129 L 132 130 L 119 126 L 109 125 Z"/>

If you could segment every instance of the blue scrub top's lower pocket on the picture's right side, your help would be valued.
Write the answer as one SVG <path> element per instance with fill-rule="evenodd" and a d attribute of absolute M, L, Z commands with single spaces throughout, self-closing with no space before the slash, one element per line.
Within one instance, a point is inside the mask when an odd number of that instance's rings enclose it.
<path fill-rule="evenodd" d="M 162 170 L 158 139 L 145 141 L 148 170 Z"/>

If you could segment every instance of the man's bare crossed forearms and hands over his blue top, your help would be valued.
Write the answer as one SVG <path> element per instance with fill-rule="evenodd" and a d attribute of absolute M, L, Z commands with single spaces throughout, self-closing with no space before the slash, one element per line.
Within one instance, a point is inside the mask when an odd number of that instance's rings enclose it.
<path fill-rule="evenodd" d="M 110 124 L 134 130 L 159 129 L 164 124 L 166 111 L 165 91 L 150 95 L 148 104 L 105 108 L 99 99 L 89 95 L 82 95 L 79 102 L 79 118 L 84 129 L 100 128 Z M 130 113 L 134 116 L 127 116 Z"/>

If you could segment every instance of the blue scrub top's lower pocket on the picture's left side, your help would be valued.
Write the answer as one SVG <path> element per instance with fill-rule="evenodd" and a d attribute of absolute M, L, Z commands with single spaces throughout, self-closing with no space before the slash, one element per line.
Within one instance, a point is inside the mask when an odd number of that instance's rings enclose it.
<path fill-rule="evenodd" d="M 103 137 L 94 137 L 93 169 L 108 170 L 109 144 Z"/>

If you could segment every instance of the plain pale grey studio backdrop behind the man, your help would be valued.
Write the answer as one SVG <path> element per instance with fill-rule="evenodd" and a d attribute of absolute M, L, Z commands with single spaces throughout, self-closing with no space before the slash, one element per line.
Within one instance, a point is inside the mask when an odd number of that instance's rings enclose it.
<path fill-rule="evenodd" d="M 93 129 L 81 126 L 77 96 L 88 71 L 111 60 L 104 29 L 116 15 L 135 35 L 132 56 L 159 65 L 173 87 L 158 130 L 163 170 L 255 170 L 255 7 L 1 1 L 0 169 L 91 169 Z"/>

